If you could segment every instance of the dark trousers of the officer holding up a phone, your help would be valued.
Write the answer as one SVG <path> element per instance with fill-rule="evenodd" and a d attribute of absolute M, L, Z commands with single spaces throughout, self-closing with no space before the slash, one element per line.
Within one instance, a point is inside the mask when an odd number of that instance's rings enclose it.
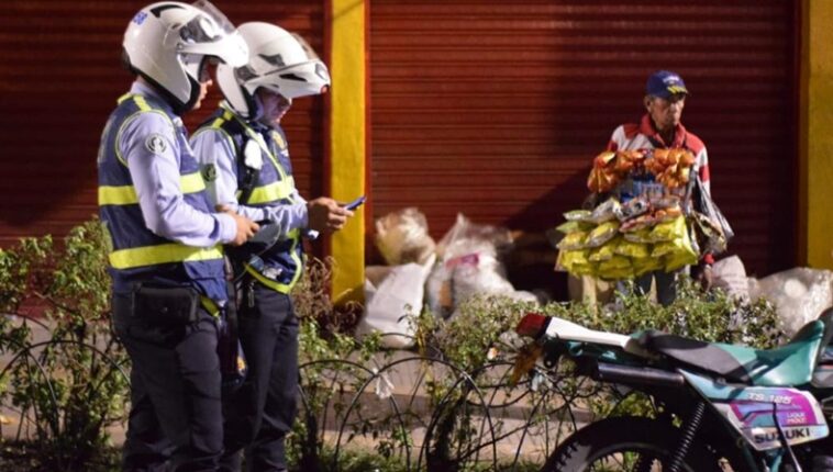
<path fill-rule="evenodd" d="M 246 288 L 242 305 L 238 333 L 248 373 L 223 402 L 221 470 L 240 470 L 245 450 L 246 470 L 282 471 L 287 468 L 284 438 L 297 412 L 298 319 L 288 295 L 259 283 Z"/>

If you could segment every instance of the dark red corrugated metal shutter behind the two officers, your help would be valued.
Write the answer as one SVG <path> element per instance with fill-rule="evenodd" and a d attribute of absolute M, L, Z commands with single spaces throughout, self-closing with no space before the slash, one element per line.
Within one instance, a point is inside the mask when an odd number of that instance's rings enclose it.
<path fill-rule="evenodd" d="M 131 16 L 147 2 L 79 0 L 0 3 L 0 246 L 21 236 L 64 235 L 97 209 L 96 154 L 115 99 L 131 77 L 120 68 Z M 323 0 L 214 1 L 232 22 L 267 21 L 296 31 L 323 55 Z M 190 130 L 219 100 L 214 87 Z M 299 100 L 285 127 L 303 194 L 321 193 L 323 101 Z"/>

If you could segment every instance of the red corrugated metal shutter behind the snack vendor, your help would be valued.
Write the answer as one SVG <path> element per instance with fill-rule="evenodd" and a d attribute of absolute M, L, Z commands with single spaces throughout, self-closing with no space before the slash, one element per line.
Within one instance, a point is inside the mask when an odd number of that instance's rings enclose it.
<path fill-rule="evenodd" d="M 684 123 L 758 274 L 795 261 L 795 4 L 782 0 L 373 0 L 374 216 L 415 205 L 542 231 L 580 205 L 590 160 L 680 72 Z"/>

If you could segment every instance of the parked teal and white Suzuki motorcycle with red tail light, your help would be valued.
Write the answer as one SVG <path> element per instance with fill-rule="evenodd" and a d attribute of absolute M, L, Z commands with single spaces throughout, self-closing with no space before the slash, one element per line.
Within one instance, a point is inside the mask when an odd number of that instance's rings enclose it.
<path fill-rule="evenodd" d="M 527 314 L 533 341 L 515 375 L 564 359 L 576 374 L 648 395 L 655 417 L 609 417 L 579 429 L 543 472 L 833 471 L 833 308 L 785 346 L 758 350 L 656 330 L 624 336 Z"/>

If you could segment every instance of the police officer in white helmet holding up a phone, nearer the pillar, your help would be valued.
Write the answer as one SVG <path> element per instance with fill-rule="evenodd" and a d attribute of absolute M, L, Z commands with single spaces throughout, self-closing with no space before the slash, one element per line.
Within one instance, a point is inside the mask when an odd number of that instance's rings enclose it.
<path fill-rule="evenodd" d="M 248 362 L 243 385 L 225 401 L 222 470 L 286 470 L 284 438 L 296 414 L 298 321 L 289 296 L 303 270 L 301 237 L 340 229 L 353 213 L 329 198 L 306 201 L 295 188 L 280 120 L 292 100 L 330 86 L 326 66 L 298 35 L 268 23 L 237 29 L 247 65 L 218 67 L 225 101 L 191 144 L 220 207 L 262 222 L 274 239 L 232 251 L 242 303 L 240 340 Z"/>

